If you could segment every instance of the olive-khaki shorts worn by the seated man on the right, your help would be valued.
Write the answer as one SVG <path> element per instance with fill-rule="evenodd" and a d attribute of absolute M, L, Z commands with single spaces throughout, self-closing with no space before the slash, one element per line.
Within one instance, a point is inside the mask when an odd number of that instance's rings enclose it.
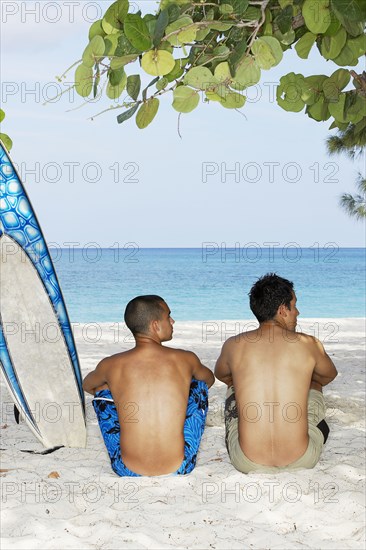
<path fill-rule="evenodd" d="M 239 419 L 235 401 L 234 387 L 230 386 L 226 394 L 225 403 L 225 429 L 226 429 L 226 447 L 230 456 L 232 465 L 247 474 L 252 471 L 278 472 L 286 470 L 295 470 L 297 468 L 314 468 L 318 462 L 323 445 L 323 433 L 317 428 L 317 425 L 325 418 L 325 402 L 322 392 L 311 389 L 308 397 L 308 432 L 309 444 L 305 453 L 286 466 L 265 466 L 256 464 L 249 460 L 243 453 L 239 444 Z"/>

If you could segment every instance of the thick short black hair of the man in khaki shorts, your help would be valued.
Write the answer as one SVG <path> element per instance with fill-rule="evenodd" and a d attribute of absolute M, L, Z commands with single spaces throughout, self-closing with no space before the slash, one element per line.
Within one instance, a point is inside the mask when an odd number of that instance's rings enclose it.
<path fill-rule="evenodd" d="M 250 309 L 260 323 L 275 317 L 278 308 L 291 309 L 294 285 L 276 273 L 267 273 L 252 286 L 249 292 Z"/>

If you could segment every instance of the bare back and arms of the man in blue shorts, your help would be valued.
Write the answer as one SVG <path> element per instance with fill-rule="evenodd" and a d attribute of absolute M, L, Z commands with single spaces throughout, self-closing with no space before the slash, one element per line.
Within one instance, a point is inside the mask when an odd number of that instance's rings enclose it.
<path fill-rule="evenodd" d="M 85 391 L 109 389 L 121 426 L 121 456 L 138 474 L 176 471 L 184 458 L 184 422 L 192 377 L 211 386 L 212 372 L 189 351 L 149 337 L 103 359 L 84 379 Z"/>

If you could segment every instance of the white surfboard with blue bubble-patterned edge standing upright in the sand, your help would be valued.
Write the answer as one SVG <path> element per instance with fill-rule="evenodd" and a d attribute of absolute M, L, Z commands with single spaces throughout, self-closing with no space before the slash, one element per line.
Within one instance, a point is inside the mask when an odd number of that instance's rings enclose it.
<path fill-rule="evenodd" d="M 85 401 L 72 327 L 22 181 L 0 141 L 0 363 L 45 447 L 85 447 Z"/>

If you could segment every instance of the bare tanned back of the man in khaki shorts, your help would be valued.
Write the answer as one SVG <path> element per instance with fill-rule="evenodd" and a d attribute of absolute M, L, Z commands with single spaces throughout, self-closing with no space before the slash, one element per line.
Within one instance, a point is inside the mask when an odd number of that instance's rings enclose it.
<path fill-rule="evenodd" d="M 225 361 L 235 388 L 239 443 L 258 464 L 283 466 L 308 445 L 307 398 L 314 339 L 269 325 L 231 338 Z"/>

